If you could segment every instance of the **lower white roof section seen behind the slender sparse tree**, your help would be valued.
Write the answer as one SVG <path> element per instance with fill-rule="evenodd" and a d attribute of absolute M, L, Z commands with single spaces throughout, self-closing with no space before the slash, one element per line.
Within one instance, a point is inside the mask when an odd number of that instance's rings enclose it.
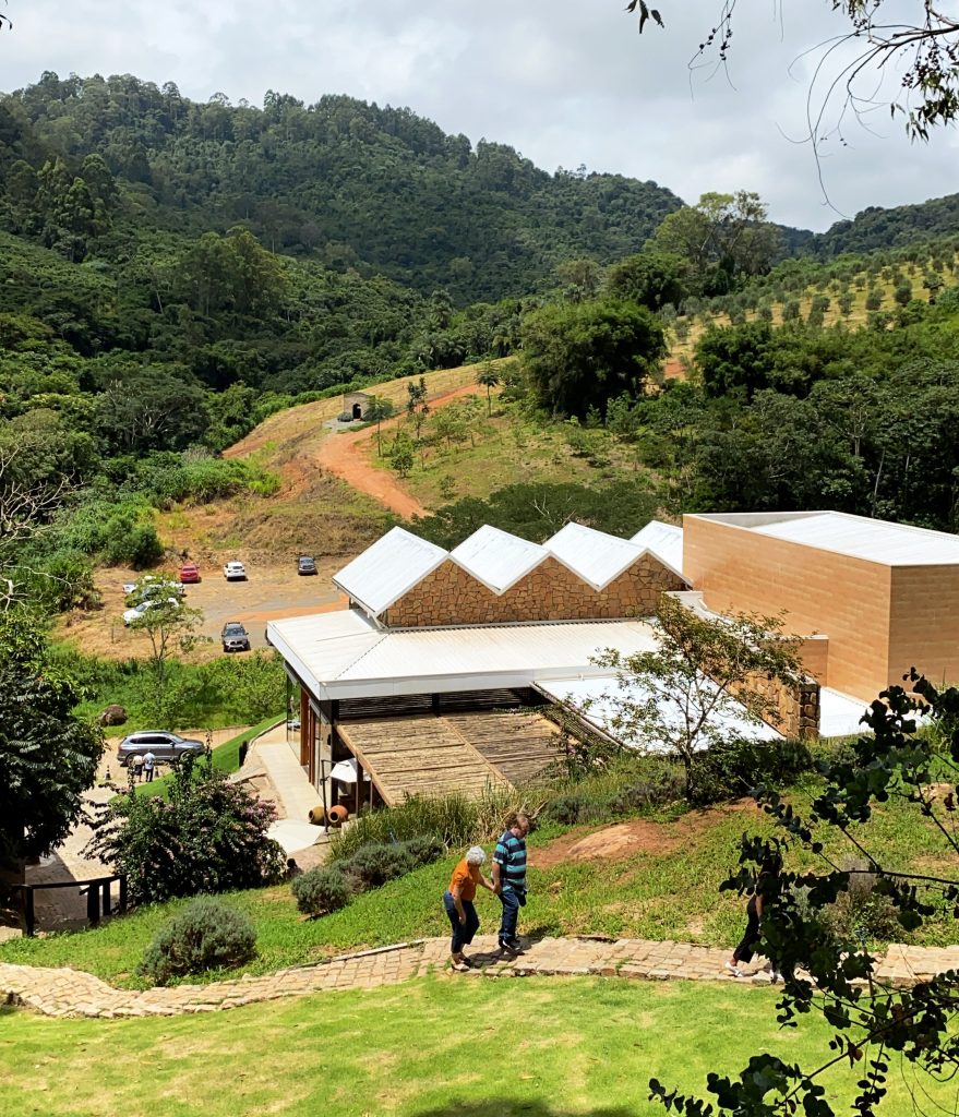
<path fill-rule="evenodd" d="M 585 720 L 591 722 L 598 729 L 616 737 L 623 744 L 633 746 L 644 744 L 642 741 L 624 736 L 621 731 L 614 727 L 616 714 L 623 699 L 648 700 L 651 691 L 638 680 L 630 680 L 625 689 L 620 687 L 617 677 L 609 674 L 588 679 L 538 679 L 537 685 L 540 690 L 557 701 L 566 703 L 580 710 Z M 711 686 L 712 684 L 703 677 L 703 685 Z M 682 723 L 683 713 L 673 703 L 663 700 L 658 706 L 658 714 L 666 724 L 678 725 Z M 734 698 L 725 698 L 720 701 L 709 719 L 709 726 L 713 731 L 730 736 L 746 737 L 749 741 L 782 739 L 782 734 L 773 729 L 771 725 L 750 718 L 746 707 L 735 701 Z M 706 747 L 705 742 L 701 747 Z"/>

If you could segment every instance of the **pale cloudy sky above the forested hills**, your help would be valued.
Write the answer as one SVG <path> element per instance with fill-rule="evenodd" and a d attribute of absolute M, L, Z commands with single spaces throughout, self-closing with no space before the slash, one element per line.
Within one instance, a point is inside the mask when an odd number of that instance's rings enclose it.
<path fill-rule="evenodd" d="M 728 74 L 687 67 L 720 0 L 662 0 L 666 30 L 649 27 L 642 38 L 626 0 L 3 4 L 15 23 L 0 36 L 4 90 L 55 70 L 172 80 L 202 101 L 345 93 L 407 105 L 474 142 L 509 143 L 549 171 L 586 164 L 653 179 L 687 201 L 756 190 L 775 220 L 817 230 L 866 206 L 959 189 L 957 133 L 911 145 L 884 111 L 872 131 L 851 122 L 844 142 L 822 147 L 835 208 L 827 203 L 800 142 L 815 63 L 803 54 L 843 28 L 827 0 L 739 0 Z M 890 96 L 895 85 L 891 75 Z"/>

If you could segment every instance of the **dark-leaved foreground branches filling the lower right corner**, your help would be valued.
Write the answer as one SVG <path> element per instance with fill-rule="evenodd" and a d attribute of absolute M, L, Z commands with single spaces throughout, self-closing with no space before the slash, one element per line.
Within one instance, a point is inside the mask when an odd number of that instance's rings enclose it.
<path fill-rule="evenodd" d="M 832 1030 L 818 1066 L 804 1069 L 769 1051 L 749 1059 L 738 1078 L 712 1073 L 709 1091 L 721 1113 L 737 1117 L 832 1117 L 835 1077 L 845 1066 L 856 1078 L 851 1110 L 867 1117 L 886 1094 L 893 1059 L 908 1068 L 918 1113 L 956 1111 L 959 1072 L 959 972 L 899 986 L 879 970 L 879 958 L 856 928 L 830 919 L 830 910 L 858 884 L 873 903 L 889 905 L 900 926 L 918 930 L 932 917 L 950 922 L 959 901 L 959 688 L 939 690 L 915 670 L 909 690 L 890 687 L 866 710 L 867 735 L 824 770 L 824 784 L 807 815 L 771 790 L 757 800 L 776 823 L 771 838 L 744 836 L 739 871 L 721 887 L 756 890 L 760 866 L 784 857 L 786 869 L 763 886 L 761 953 L 777 960 L 785 978 L 779 1022 L 820 1012 Z M 925 725 L 920 727 L 920 717 Z M 876 852 L 873 830 L 889 832 L 889 804 L 899 802 L 924 820 L 927 841 L 939 849 L 922 867 L 906 850 L 889 859 Z M 905 830 L 903 830 L 905 832 Z M 848 842 L 858 868 L 847 869 L 826 852 L 827 837 Z M 835 849 L 836 841 L 830 843 Z M 795 853 L 818 859 L 818 871 L 789 868 Z M 826 1092 L 824 1078 L 830 1087 Z M 923 1081 L 924 1076 L 924 1081 Z M 950 1087 L 951 1081 L 951 1087 Z M 655 1079 L 652 1096 L 683 1117 L 704 1117 L 713 1105 L 681 1095 Z M 937 1086 L 939 1089 L 937 1090 Z"/>

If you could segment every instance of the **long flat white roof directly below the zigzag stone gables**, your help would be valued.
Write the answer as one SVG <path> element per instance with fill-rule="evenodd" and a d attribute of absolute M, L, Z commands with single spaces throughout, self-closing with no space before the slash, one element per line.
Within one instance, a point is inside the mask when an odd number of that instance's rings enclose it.
<path fill-rule="evenodd" d="M 590 659 L 605 648 L 629 656 L 656 647 L 642 621 L 389 630 L 346 611 L 270 621 L 268 634 L 320 698 L 529 686 L 600 674 Z"/>

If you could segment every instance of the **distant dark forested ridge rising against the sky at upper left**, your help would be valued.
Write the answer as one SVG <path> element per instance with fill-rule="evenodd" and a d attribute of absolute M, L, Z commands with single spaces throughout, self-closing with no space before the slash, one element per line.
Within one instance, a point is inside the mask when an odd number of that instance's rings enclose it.
<path fill-rule="evenodd" d="M 563 259 L 637 251 L 682 204 L 654 182 L 549 174 L 406 108 L 275 93 L 263 108 L 222 94 L 198 104 L 172 84 L 45 74 L 0 101 L 7 227 L 29 232 L 46 217 L 23 204 L 29 171 L 59 157 L 72 180 L 91 154 L 141 222 L 193 233 L 243 222 L 273 250 L 443 286 L 459 303 L 537 290 Z M 78 208 L 91 207 L 67 207 Z"/>

